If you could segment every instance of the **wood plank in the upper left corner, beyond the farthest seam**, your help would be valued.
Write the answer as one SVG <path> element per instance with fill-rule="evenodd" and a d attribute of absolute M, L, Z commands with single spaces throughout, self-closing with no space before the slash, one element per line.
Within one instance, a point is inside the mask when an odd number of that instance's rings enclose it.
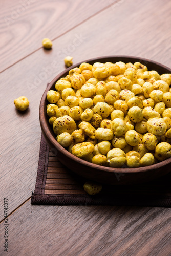
<path fill-rule="evenodd" d="M 3 49 L 0 72 L 42 48 L 44 37 L 54 40 L 106 6 L 110 3 L 103 0 L 3 1 L 0 8 L 0 48 Z M 48 54 L 46 50 L 41 51 Z"/>

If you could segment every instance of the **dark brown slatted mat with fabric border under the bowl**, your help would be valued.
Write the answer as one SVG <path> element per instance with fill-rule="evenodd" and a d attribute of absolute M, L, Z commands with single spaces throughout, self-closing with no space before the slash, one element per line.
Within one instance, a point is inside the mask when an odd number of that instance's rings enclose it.
<path fill-rule="evenodd" d="M 171 173 L 134 186 L 103 185 L 101 193 L 90 196 L 83 190 L 87 180 L 63 166 L 41 136 L 35 191 L 31 204 L 44 205 L 136 205 L 171 206 Z"/>

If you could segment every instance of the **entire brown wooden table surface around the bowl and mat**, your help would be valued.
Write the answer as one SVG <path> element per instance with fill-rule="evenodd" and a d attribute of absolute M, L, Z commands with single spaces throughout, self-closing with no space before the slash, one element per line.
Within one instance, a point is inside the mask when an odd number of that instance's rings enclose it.
<path fill-rule="evenodd" d="M 152 59 L 171 67 L 171 1 L 0 0 L 1 231 L 8 199 L 8 255 L 171 255 L 171 209 L 31 205 L 47 82 L 74 63 L 106 55 Z M 52 50 L 41 46 L 53 41 Z M 19 113 L 13 100 L 25 95 Z"/>

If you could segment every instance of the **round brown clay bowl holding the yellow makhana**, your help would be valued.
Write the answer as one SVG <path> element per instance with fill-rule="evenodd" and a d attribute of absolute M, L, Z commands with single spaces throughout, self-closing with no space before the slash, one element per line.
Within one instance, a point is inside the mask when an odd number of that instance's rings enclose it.
<path fill-rule="evenodd" d="M 136 62 L 139 61 L 147 66 L 148 70 L 156 70 L 160 75 L 163 73 L 171 73 L 171 69 L 161 65 L 160 63 L 143 59 L 140 57 L 131 57 L 131 56 L 106 56 L 94 58 L 82 62 L 88 62 L 93 64 L 94 62 L 117 62 L 123 61 L 127 62 Z M 88 180 L 93 180 L 100 183 L 106 183 L 111 185 L 129 185 L 137 184 L 142 182 L 148 182 L 153 179 L 159 178 L 171 170 L 171 158 L 166 159 L 160 163 L 139 168 L 111 168 L 99 166 L 93 163 L 84 161 L 71 153 L 69 153 L 65 148 L 63 148 L 56 140 L 56 136 L 53 133 L 52 126 L 48 122 L 48 116 L 46 114 L 46 108 L 48 101 L 46 94 L 49 90 L 55 90 L 55 83 L 61 77 L 66 77 L 71 68 L 79 67 L 80 63 L 73 65 L 72 67 L 64 70 L 59 75 L 57 75 L 48 85 L 44 94 L 42 95 L 39 108 L 39 119 L 42 133 L 49 146 L 54 149 L 56 157 L 58 160 L 67 166 L 74 173 L 87 178 Z"/>

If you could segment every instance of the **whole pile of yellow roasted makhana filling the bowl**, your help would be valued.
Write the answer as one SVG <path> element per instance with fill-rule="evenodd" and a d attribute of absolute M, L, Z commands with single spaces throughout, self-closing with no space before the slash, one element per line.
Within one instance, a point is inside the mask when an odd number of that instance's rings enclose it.
<path fill-rule="evenodd" d="M 140 62 L 83 62 L 47 93 L 57 142 L 94 164 L 149 166 L 171 157 L 171 74 Z"/>

